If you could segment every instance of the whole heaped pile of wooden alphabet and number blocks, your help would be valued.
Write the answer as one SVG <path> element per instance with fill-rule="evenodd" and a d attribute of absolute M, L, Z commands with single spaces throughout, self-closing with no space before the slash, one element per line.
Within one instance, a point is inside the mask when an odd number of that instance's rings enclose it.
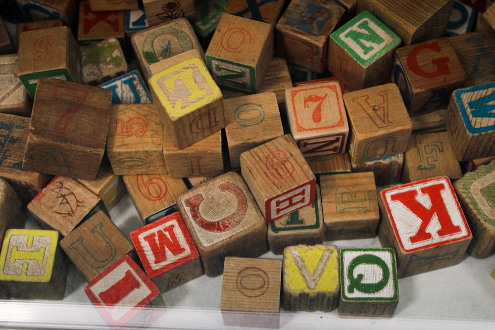
<path fill-rule="evenodd" d="M 470 2 L 1 1 L 0 298 L 63 299 L 70 261 L 112 325 L 203 274 L 226 324 L 390 317 L 398 278 L 492 255 L 495 5 Z"/>

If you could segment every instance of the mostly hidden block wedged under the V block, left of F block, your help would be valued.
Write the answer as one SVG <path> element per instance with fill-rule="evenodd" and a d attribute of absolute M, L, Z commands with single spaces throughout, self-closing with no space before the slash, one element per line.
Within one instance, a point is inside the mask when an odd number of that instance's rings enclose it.
<path fill-rule="evenodd" d="M 404 154 L 387 156 L 364 163 L 351 162 L 352 172 L 373 172 L 378 187 L 397 185 L 400 183 Z"/>

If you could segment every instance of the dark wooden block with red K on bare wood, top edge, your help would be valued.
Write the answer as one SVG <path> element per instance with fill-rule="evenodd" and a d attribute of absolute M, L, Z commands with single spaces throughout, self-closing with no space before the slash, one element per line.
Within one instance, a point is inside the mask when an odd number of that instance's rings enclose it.
<path fill-rule="evenodd" d="M 124 11 L 93 11 L 88 0 L 79 3 L 77 41 L 87 45 L 106 38 L 124 42 Z"/>

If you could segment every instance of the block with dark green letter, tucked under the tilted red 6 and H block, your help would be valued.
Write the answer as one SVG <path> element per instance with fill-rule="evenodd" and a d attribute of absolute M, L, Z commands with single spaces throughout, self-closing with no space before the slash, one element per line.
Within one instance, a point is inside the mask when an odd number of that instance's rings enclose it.
<path fill-rule="evenodd" d="M 316 186 L 313 204 L 272 221 L 267 227 L 268 247 L 282 254 L 287 246 L 322 244 L 325 239 L 320 189 Z"/>

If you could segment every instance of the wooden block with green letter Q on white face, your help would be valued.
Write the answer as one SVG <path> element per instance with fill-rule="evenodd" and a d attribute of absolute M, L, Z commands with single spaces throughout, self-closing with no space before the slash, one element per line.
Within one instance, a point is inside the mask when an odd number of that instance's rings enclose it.
<path fill-rule="evenodd" d="M 339 316 L 394 315 L 399 300 L 399 288 L 393 249 L 341 249 L 340 281 Z"/>

